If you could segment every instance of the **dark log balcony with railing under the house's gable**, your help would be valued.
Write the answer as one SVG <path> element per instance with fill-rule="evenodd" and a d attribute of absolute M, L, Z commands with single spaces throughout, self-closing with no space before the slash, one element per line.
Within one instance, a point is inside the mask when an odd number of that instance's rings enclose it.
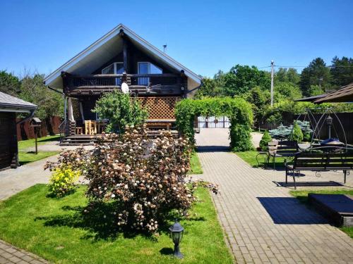
<path fill-rule="evenodd" d="M 97 74 L 71 75 L 61 73 L 64 92 L 68 96 L 100 95 L 121 89 L 126 82 L 131 94 L 182 96 L 187 90 L 186 79 L 173 73 L 162 74 Z"/>

